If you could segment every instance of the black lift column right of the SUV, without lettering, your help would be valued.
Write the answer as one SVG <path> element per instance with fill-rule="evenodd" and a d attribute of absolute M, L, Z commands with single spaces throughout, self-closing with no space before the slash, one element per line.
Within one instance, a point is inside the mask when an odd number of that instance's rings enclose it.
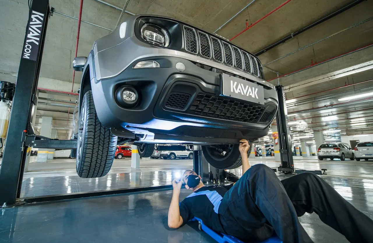
<path fill-rule="evenodd" d="M 283 92 L 283 86 L 276 86 L 279 110 L 276 114 L 277 129 L 278 129 L 278 144 L 280 146 L 281 165 L 278 171 L 286 174 L 294 173 L 293 155 L 291 152 L 291 137 L 288 124 L 288 110 L 286 108 L 286 97 Z"/>

